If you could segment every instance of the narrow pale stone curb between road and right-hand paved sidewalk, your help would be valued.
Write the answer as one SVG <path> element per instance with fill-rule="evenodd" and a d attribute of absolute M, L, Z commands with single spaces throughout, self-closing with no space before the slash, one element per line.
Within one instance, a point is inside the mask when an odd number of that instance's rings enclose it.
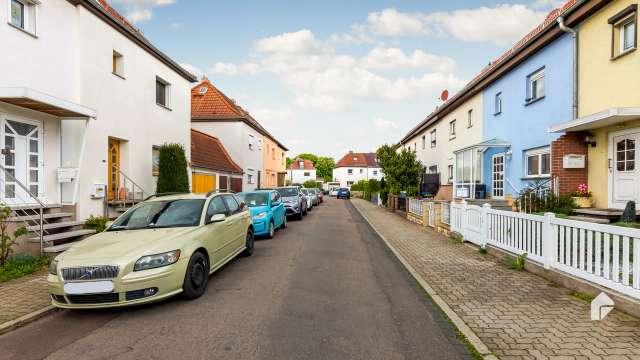
<path fill-rule="evenodd" d="M 484 359 L 497 360 L 498 358 L 491 353 L 487 345 L 485 345 L 485 343 L 482 342 L 482 340 L 478 337 L 478 335 L 476 335 L 476 333 L 474 333 L 473 330 L 471 330 L 471 328 L 462 320 L 462 318 L 460 318 L 460 316 L 458 316 L 458 314 L 456 314 L 455 311 L 451 309 L 449 304 L 447 304 L 444 301 L 444 299 L 442 299 L 442 297 L 431 287 L 431 285 L 429 285 L 429 283 L 427 283 L 424 280 L 424 278 L 420 276 L 420 274 L 418 274 L 418 272 L 413 268 L 413 266 L 411 266 L 411 264 L 398 251 L 396 251 L 396 249 L 393 247 L 393 245 L 391 245 L 391 243 L 387 240 L 387 238 L 384 235 L 382 235 L 380 231 L 378 231 L 375 225 L 373 225 L 371 220 L 369 220 L 369 218 L 362 211 L 360 211 L 358 206 L 354 205 L 353 207 L 358 211 L 360 216 L 362 216 L 367 221 L 367 223 L 369 223 L 369 226 L 371 226 L 373 231 L 375 231 L 376 234 L 382 239 L 382 241 L 384 241 L 384 243 L 387 245 L 389 250 L 391 250 L 391 252 L 396 256 L 396 258 L 400 260 L 400 263 L 402 263 L 402 265 L 407 269 L 407 271 L 411 274 L 411 276 L 418 282 L 418 284 L 420 284 L 420 286 L 424 289 L 424 291 L 426 291 L 427 294 L 429 294 L 429 296 L 433 299 L 436 305 L 438 305 L 438 307 L 440 307 L 440 309 L 449 317 L 449 319 L 451 319 L 451 322 L 453 322 L 454 326 L 458 328 L 458 331 L 460 331 L 460 333 L 462 333 L 462 335 L 464 335 L 467 338 L 467 341 L 469 341 L 471 346 L 473 346 L 476 349 L 476 351 L 480 355 L 482 355 Z"/>

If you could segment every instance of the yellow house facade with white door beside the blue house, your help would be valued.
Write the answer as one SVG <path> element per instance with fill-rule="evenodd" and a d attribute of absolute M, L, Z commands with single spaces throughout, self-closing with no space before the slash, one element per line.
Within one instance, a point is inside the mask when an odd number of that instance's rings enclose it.
<path fill-rule="evenodd" d="M 564 182 L 567 169 L 557 169 L 563 192 L 587 183 L 598 208 L 640 201 L 637 16 L 637 1 L 616 0 L 579 24 L 578 114 L 550 128 L 564 145 L 554 160 L 573 167 Z"/>

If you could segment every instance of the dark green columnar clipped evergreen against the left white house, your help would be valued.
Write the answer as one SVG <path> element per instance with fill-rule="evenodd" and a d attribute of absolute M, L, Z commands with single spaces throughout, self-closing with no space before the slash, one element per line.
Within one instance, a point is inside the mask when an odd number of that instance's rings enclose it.
<path fill-rule="evenodd" d="M 160 147 L 157 193 L 189 192 L 189 174 L 184 148 L 180 144 Z"/>

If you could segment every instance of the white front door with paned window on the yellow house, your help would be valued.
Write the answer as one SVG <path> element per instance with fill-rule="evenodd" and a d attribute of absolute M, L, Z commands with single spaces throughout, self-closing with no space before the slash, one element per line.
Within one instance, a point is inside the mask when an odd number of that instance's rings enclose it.
<path fill-rule="evenodd" d="M 640 132 L 613 135 L 611 196 L 609 206 L 622 209 L 628 201 L 640 200 Z"/>

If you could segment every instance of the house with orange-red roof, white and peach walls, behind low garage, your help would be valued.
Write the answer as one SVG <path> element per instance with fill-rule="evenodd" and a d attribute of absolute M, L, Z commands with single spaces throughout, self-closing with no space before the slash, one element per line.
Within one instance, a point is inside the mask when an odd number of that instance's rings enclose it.
<path fill-rule="evenodd" d="M 265 187 L 265 181 L 272 181 L 273 175 L 277 181 L 278 172 L 282 172 L 281 160 L 277 159 L 286 152 L 286 147 L 207 78 L 191 89 L 191 121 L 193 129 L 214 136 L 225 144 L 231 158 L 244 173 L 242 191 Z M 265 141 L 269 141 L 269 150 Z"/>

